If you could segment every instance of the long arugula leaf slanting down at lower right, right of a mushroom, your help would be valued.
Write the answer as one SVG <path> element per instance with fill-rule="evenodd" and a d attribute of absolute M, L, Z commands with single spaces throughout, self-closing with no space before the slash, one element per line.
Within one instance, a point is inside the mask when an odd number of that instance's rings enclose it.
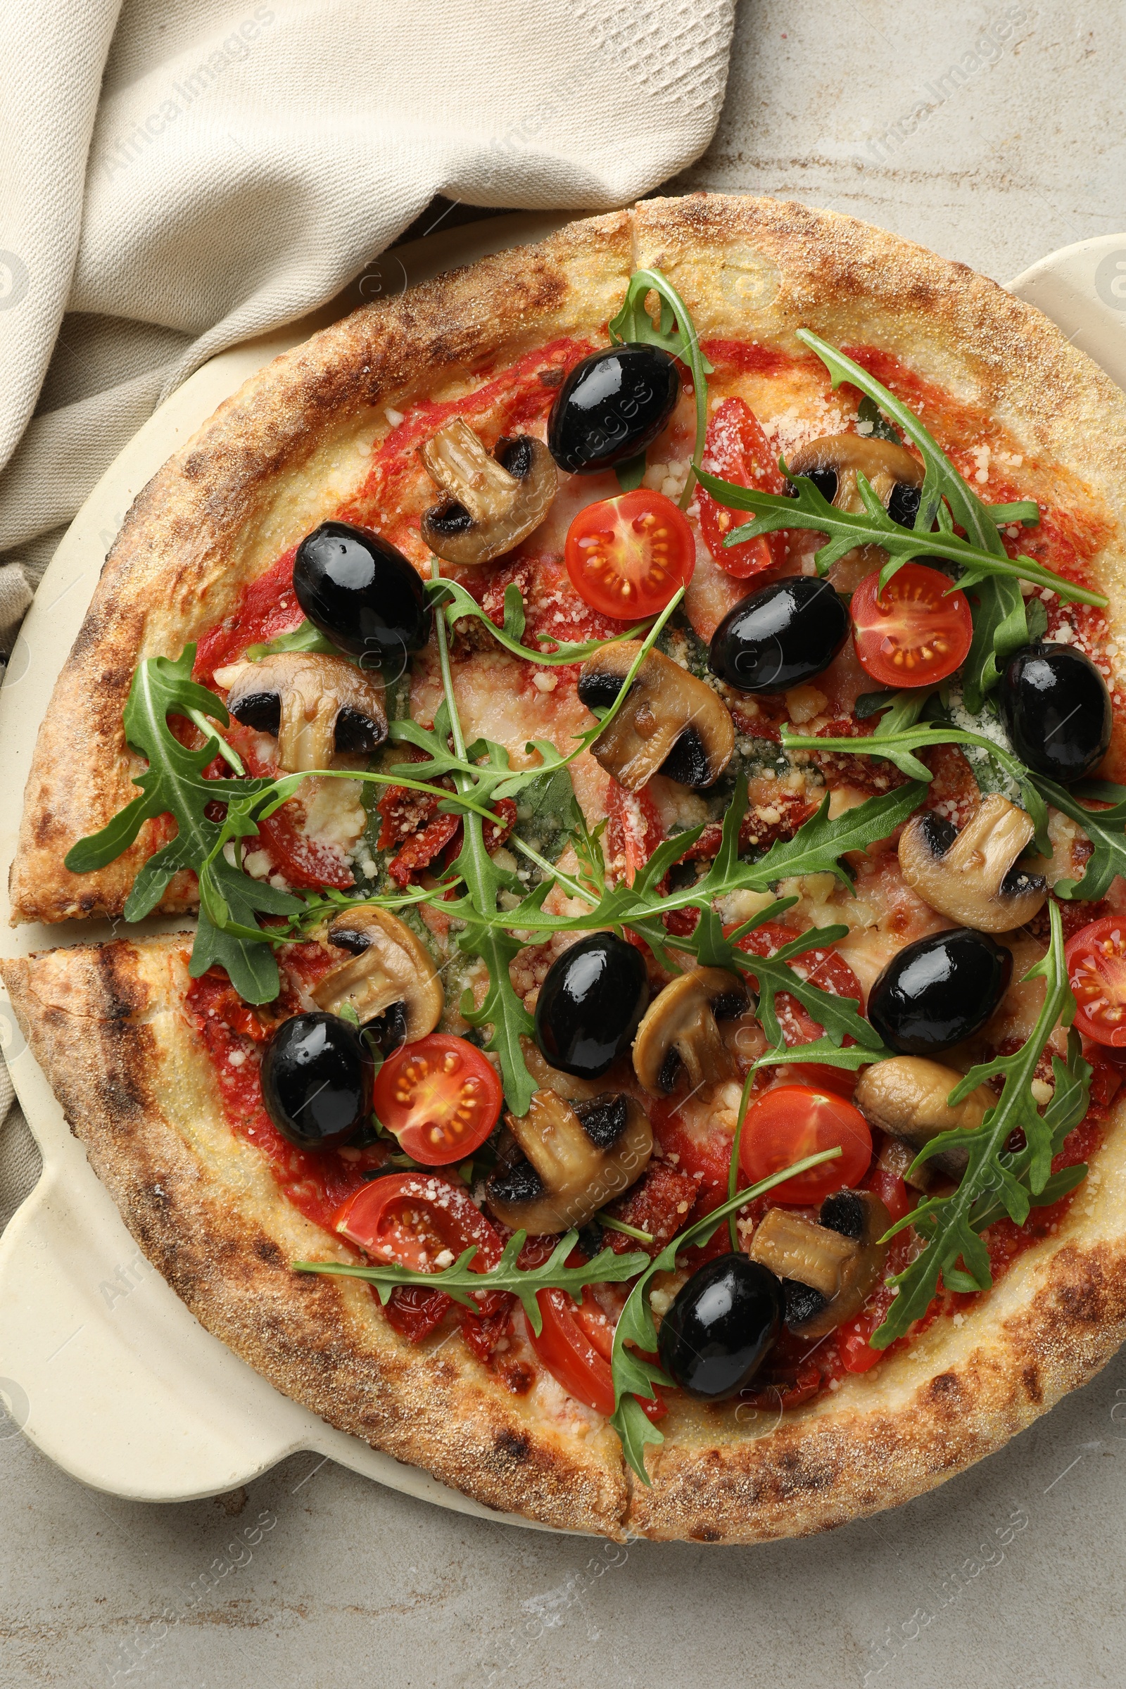
<path fill-rule="evenodd" d="M 1060 910 L 1055 904 L 1048 904 L 1048 914 L 1052 921 L 1048 951 L 1025 975 L 1025 980 L 1045 981 L 1043 1007 L 1031 1034 L 1013 1056 L 996 1056 L 971 1067 L 949 1096 L 954 1106 L 986 1079 L 1001 1078 L 998 1103 L 986 1110 L 979 1127 L 939 1133 L 912 1164 L 922 1167 L 932 1155 L 949 1149 L 969 1152 L 969 1164 L 957 1191 L 950 1196 L 928 1198 L 886 1233 L 891 1238 L 905 1226 L 913 1226 L 923 1240 L 923 1248 L 890 1280 L 898 1294 L 885 1322 L 868 1339 L 873 1348 L 886 1348 L 922 1319 L 934 1301 L 939 1279 L 949 1290 L 991 1287 L 989 1252 L 981 1241 L 981 1231 L 1001 1218 L 1001 1213 L 1018 1226 L 1025 1223 L 1033 1201 L 1043 1198 L 1048 1186 L 1052 1157 L 1087 1110 L 1091 1067 L 1082 1059 L 1080 1040 L 1074 1032 L 1067 1042 L 1067 1062 L 1058 1056 L 1053 1057 L 1055 1094 L 1043 1115 L 1038 1113 L 1031 1094 L 1037 1062 L 1055 1024 L 1070 1027 L 1075 1013 L 1075 998 L 1067 983 L 1064 961 Z M 1010 1152 L 1004 1145 L 1016 1128 L 1025 1133 L 1026 1143 L 1023 1150 Z"/>

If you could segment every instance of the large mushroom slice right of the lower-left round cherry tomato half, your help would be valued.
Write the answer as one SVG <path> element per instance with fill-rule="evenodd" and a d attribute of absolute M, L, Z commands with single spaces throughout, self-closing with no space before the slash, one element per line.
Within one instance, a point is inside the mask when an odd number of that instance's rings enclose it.
<path fill-rule="evenodd" d="M 530 1236 L 582 1226 L 641 1177 L 653 1154 L 648 1115 L 620 1093 L 567 1103 L 537 1091 L 527 1115 L 505 1115 L 505 1123 L 513 1154 L 490 1174 L 486 1201 L 505 1226 Z"/>

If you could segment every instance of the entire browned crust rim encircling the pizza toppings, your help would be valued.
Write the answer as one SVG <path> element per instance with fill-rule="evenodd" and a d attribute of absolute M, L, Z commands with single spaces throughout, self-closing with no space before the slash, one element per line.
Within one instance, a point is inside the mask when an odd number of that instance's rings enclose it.
<path fill-rule="evenodd" d="M 1030 488 L 1106 535 L 1096 583 L 1126 644 L 1126 397 L 1035 309 L 851 218 L 699 194 L 574 223 L 344 323 L 258 372 L 154 476 L 106 561 L 59 677 L 12 870 L 17 921 L 116 915 L 152 829 L 108 868 L 62 858 L 132 796 L 122 708 L 140 657 L 179 655 L 243 586 L 356 490 L 385 407 L 466 390 L 550 336 L 606 339 L 638 265 L 674 282 L 704 338 L 798 350 L 807 326 L 874 345 L 984 407 Z M 165 910 L 187 909 L 174 882 Z M 130 1231 L 198 1319 L 339 1429 L 488 1507 L 609 1537 L 805 1535 L 893 1507 L 1003 1446 L 1126 1336 L 1126 1108 L 1058 1231 L 955 1326 L 775 1424 L 677 1398 L 652 1488 L 598 1415 L 512 1395 L 461 1341 L 400 1339 L 366 1287 L 295 1275 L 346 1258 L 226 1125 L 182 1012 L 187 939 L 118 941 L 0 966 L 32 1052 Z M 582 1414 L 584 1410 L 581 1410 Z M 738 1415 L 743 1414 L 743 1419 Z"/>

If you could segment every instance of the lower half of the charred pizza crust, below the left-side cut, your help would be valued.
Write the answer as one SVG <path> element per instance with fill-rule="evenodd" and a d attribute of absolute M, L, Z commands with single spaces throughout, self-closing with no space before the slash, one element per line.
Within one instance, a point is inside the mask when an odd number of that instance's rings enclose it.
<path fill-rule="evenodd" d="M 351 1260 L 223 1118 L 181 1012 L 189 937 L 0 966 L 20 1027 L 133 1238 L 208 1331 L 279 1390 L 474 1502 L 564 1530 L 763 1542 L 934 1488 L 1085 1383 L 1126 1338 L 1126 1106 L 1057 1236 L 962 1316 L 773 1424 L 677 1398 L 652 1488 L 613 1429 L 513 1397 L 449 1329 L 400 1339 L 366 1287 L 294 1274 Z M 576 1432 L 574 1426 L 582 1431 Z"/>

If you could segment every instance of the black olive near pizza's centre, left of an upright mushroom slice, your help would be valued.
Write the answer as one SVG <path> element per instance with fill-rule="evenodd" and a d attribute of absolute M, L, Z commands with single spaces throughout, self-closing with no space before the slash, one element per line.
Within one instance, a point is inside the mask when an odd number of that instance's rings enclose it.
<path fill-rule="evenodd" d="M 647 1003 L 640 949 L 591 932 L 552 963 L 535 1005 L 535 1042 L 552 1067 L 598 1079 L 630 1049 Z"/>

